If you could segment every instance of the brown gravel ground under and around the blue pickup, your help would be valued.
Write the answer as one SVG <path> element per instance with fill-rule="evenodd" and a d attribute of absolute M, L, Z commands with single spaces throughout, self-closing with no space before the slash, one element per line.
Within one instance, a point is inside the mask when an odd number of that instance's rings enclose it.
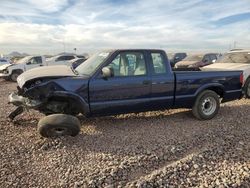
<path fill-rule="evenodd" d="M 0 80 L 0 187 L 250 187 L 250 100 L 209 121 L 189 110 L 81 119 L 77 137 L 45 139 L 30 111 L 14 122 Z"/>

